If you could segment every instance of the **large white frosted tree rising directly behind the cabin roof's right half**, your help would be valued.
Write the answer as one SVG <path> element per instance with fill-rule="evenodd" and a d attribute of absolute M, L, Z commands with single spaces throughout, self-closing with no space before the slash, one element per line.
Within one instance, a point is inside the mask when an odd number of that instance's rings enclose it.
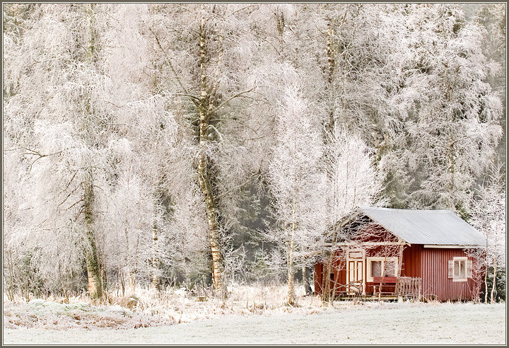
<path fill-rule="evenodd" d="M 501 137 L 501 101 L 484 82 L 491 69 L 481 50 L 484 30 L 445 4 L 414 6 L 406 28 L 413 66 L 400 94 L 410 96 L 410 205 L 463 214 Z"/>

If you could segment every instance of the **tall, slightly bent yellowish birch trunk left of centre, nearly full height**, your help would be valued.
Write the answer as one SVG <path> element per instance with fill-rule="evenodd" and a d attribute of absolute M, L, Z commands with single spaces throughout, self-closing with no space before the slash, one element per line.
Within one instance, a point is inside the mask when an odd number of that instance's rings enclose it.
<path fill-rule="evenodd" d="M 209 122 L 211 111 L 210 98 L 208 93 L 208 85 L 206 79 L 206 41 L 204 32 L 204 18 L 201 18 L 200 23 L 200 97 L 199 97 L 199 159 L 198 159 L 198 180 L 201 188 L 201 193 L 204 197 L 207 222 L 209 224 L 209 238 L 211 245 L 212 256 L 212 281 L 216 291 L 221 294 L 226 294 L 223 289 L 223 257 L 221 255 L 219 232 L 221 227 L 219 225 L 219 216 L 216 209 L 216 202 L 211 185 L 210 176 L 210 158 L 207 154 L 207 134 L 209 131 Z"/>

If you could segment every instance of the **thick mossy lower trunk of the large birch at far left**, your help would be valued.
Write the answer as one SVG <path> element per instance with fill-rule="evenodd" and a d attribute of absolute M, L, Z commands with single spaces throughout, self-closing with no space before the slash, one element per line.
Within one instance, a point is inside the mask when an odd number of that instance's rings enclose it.
<path fill-rule="evenodd" d="M 88 278 L 88 294 L 91 298 L 100 298 L 103 296 L 103 279 L 101 277 L 97 245 L 95 244 L 94 233 L 94 191 L 92 168 L 88 168 L 85 184 L 85 194 L 83 196 L 83 212 L 85 214 L 85 233 L 88 242 L 86 250 L 86 266 Z"/>

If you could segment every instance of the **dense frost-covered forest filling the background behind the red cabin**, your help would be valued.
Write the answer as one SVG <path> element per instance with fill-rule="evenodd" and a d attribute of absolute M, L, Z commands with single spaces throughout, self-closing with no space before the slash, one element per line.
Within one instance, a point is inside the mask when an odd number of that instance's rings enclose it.
<path fill-rule="evenodd" d="M 505 267 L 505 4 L 3 11 L 8 296 L 291 301 L 361 204 L 450 209 Z"/>

